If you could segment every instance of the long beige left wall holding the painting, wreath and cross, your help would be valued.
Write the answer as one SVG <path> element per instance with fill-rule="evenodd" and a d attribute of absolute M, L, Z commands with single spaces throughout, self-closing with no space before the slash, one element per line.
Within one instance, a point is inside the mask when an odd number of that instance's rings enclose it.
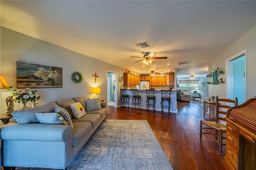
<path fill-rule="evenodd" d="M 122 75 L 124 72 L 124 69 L 120 67 L 20 34 L 7 28 L 1 27 L 0 35 L 0 73 L 14 89 L 16 89 L 16 61 L 62 67 L 63 87 L 38 88 L 38 94 L 40 95 L 38 105 L 43 105 L 50 101 L 70 99 L 72 97 L 90 97 L 92 95 L 90 93 L 90 87 L 100 87 L 101 93 L 99 97 L 106 100 L 107 70 L 116 72 L 117 76 Z M 70 77 L 74 71 L 82 73 L 84 77 L 82 83 L 75 84 L 71 81 Z M 95 72 L 99 75 L 96 84 L 94 83 L 94 77 L 92 77 Z M 117 81 L 117 83 L 117 87 L 120 87 L 121 83 L 119 81 Z M 10 93 L 5 89 L 1 89 L 0 92 L 0 111 L 2 114 L 6 113 L 7 107 L 5 99 L 10 96 Z M 117 94 L 119 95 L 118 92 Z M 119 96 L 117 99 L 119 99 Z M 32 106 L 31 102 L 30 106 Z M 15 110 L 19 109 L 19 107 L 19 103 L 14 103 Z"/>

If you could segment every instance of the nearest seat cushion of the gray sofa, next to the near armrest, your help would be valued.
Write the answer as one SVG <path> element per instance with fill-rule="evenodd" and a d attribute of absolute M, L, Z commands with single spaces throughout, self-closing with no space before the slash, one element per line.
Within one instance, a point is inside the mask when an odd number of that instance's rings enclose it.
<path fill-rule="evenodd" d="M 86 135 L 92 130 L 92 123 L 90 122 L 74 122 L 73 129 L 73 146 L 83 140 Z"/>

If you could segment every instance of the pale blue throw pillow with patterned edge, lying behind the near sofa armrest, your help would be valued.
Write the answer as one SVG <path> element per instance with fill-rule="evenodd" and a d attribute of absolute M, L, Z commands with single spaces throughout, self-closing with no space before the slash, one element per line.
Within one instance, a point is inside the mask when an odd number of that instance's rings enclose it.
<path fill-rule="evenodd" d="M 58 113 L 36 113 L 36 118 L 44 124 L 68 125 L 62 115 Z"/>

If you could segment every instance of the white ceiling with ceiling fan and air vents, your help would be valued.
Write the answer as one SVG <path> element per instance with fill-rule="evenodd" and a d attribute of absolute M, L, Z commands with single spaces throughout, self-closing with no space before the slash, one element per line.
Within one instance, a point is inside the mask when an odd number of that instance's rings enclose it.
<path fill-rule="evenodd" d="M 177 68 L 178 77 L 206 75 L 208 60 L 256 25 L 256 1 L 0 3 L 1 26 L 140 74 Z M 134 45 L 145 41 L 150 47 Z M 134 63 L 140 58 L 130 56 L 145 51 L 168 59 L 155 59 L 149 68 Z"/>

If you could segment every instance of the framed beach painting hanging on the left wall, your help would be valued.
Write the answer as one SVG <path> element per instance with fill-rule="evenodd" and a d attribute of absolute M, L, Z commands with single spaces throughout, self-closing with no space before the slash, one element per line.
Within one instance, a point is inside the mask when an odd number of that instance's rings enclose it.
<path fill-rule="evenodd" d="M 17 61 L 17 88 L 62 87 L 62 68 Z"/>

